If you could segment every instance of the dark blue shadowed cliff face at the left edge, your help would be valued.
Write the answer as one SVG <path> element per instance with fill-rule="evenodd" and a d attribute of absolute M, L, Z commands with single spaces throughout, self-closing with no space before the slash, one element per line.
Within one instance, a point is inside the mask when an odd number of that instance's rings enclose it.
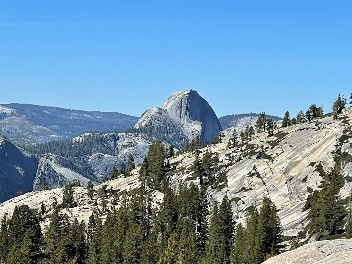
<path fill-rule="evenodd" d="M 15 196 L 17 191 L 31 191 L 37 160 L 0 136 L 0 202 Z"/>

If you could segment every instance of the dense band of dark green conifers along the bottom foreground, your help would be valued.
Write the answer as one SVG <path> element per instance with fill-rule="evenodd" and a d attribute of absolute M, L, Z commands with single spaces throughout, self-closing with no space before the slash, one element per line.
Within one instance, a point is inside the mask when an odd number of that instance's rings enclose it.
<path fill-rule="evenodd" d="M 137 194 L 123 196 L 118 209 L 99 212 L 78 222 L 52 205 L 44 234 L 36 215 L 25 205 L 0 226 L 0 261 L 14 263 L 261 263 L 281 251 L 282 230 L 277 209 L 265 198 L 247 227 L 235 231 L 225 195 L 209 213 L 204 187 L 179 184 L 178 192 L 163 182 L 164 200 L 153 207 L 142 180 Z"/>

